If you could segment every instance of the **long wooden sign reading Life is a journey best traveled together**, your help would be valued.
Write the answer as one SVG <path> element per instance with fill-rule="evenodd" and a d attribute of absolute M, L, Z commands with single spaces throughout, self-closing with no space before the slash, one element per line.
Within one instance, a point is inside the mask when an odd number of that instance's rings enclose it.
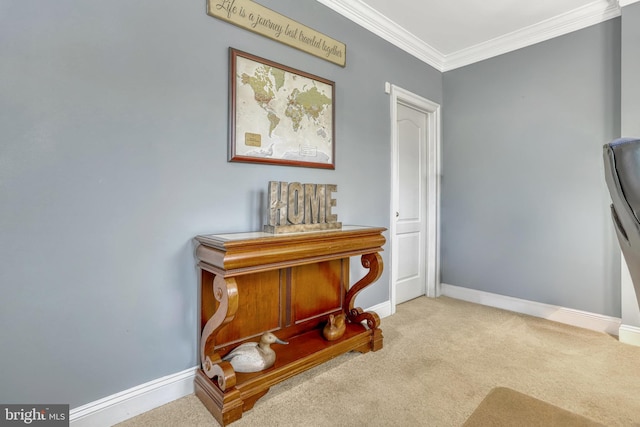
<path fill-rule="evenodd" d="M 347 47 L 252 0 L 207 0 L 207 14 L 344 67 Z"/>

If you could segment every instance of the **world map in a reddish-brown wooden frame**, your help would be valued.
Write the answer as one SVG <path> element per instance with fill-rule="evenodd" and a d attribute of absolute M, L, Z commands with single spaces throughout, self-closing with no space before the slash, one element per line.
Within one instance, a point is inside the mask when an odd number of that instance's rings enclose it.
<path fill-rule="evenodd" d="M 335 169 L 334 82 L 229 52 L 229 161 Z"/>

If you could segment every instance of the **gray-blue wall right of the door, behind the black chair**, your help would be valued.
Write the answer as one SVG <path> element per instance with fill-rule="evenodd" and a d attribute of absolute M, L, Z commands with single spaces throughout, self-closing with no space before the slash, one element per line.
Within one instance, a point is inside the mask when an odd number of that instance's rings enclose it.
<path fill-rule="evenodd" d="M 444 74 L 442 281 L 620 316 L 620 19 Z"/>

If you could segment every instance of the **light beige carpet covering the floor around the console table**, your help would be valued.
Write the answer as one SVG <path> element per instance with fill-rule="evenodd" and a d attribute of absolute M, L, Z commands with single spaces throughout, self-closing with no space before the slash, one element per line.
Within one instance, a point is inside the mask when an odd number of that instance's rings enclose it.
<path fill-rule="evenodd" d="M 243 426 L 462 426 L 507 387 L 606 426 L 640 426 L 640 347 L 451 298 L 382 319 L 384 348 L 349 353 L 271 388 Z M 195 396 L 121 424 L 215 426 Z"/>

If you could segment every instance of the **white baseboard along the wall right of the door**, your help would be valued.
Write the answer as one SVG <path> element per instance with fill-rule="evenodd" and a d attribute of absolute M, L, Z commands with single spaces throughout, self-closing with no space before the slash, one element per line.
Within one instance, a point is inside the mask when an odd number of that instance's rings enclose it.
<path fill-rule="evenodd" d="M 619 330 L 621 329 L 620 319 L 616 317 L 492 294 L 445 283 L 441 285 L 441 294 L 451 298 L 541 317 L 543 319 L 553 320 L 554 322 L 565 323 L 567 325 L 591 329 L 615 336 L 618 336 L 620 333 Z M 639 332 L 640 329 L 635 333 L 639 334 Z M 640 338 L 640 334 L 638 337 Z"/>

